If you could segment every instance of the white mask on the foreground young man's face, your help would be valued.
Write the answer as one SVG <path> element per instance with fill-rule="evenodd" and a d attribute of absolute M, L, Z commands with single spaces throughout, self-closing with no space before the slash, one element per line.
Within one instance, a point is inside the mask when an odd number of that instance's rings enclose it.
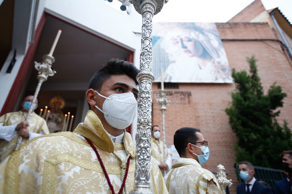
<path fill-rule="evenodd" d="M 137 113 L 137 101 L 132 92 L 112 94 L 109 97 L 95 92 L 105 98 L 102 110 L 96 105 L 95 108 L 105 115 L 108 124 L 117 129 L 125 129 L 132 124 Z"/>

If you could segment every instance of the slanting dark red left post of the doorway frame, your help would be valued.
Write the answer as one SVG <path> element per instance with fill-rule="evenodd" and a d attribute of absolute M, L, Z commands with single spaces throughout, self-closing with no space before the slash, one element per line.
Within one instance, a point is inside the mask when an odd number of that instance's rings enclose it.
<path fill-rule="evenodd" d="M 41 19 L 39 21 L 38 26 L 36 27 L 34 43 L 29 45 L 26 55 L 23 58 L 23 61 L 18 70 L 18 74 L 14 80 L 14 83 L 10 89 L 10 92 L 6 98 L 5 104 L 0 112 L 0 116 L 12 112 L 14 110 L 15 104 L 20 95 L 21 88 L 23 87 L 25 80 L 27 79 L 27 74 L 29 71 L 29 67 L 32 65 L 32 60 L 34 59 L 34 54 L 36 52 L 36 48 L 39 44 L 39 40 L 41 38 L 41 33 L 44 29 L 44 25 L 46 23 L 46 15 L 43 13 Z"/>

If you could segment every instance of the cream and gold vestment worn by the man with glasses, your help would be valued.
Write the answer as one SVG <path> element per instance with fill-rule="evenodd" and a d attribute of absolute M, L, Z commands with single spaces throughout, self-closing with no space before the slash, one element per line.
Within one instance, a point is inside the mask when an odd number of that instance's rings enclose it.
<path fill-rule="evenodd" d="M 221 194 L 213 173 L 191 158 L 174 160 L 164 180 L 169 194 Z"/>

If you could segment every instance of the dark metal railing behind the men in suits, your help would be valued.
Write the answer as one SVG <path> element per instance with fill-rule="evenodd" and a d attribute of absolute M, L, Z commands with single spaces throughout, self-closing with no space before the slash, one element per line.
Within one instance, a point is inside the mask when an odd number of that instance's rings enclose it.
<path fill-rule="evenodd" d="M 239 182 L 244 182 L 244 180 L 239 177 L 238 164 L 234 167 L 236 168 Z M 283 170 L 265 168 L 265 167 L 260 167 L 260 166 L 253 166 L 253 167 L 255 168 L 254 177 L 258 181 L 265 181 L 270 186 L 270 188 L 272 188 L 273 191 L 274 191 L 275 182 L 286 178 L 286 175 L 283 172 Z"/>

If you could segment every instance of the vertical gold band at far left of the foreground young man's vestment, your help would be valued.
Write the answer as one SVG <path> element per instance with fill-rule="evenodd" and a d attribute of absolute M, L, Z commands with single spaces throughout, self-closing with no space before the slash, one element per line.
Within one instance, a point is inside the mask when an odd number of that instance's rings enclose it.
<path fill-rule="evenodd" d="M 5 167 L 4 194 L 18 193 L 18 167 L 20 150 L 13 152 Z"/>

